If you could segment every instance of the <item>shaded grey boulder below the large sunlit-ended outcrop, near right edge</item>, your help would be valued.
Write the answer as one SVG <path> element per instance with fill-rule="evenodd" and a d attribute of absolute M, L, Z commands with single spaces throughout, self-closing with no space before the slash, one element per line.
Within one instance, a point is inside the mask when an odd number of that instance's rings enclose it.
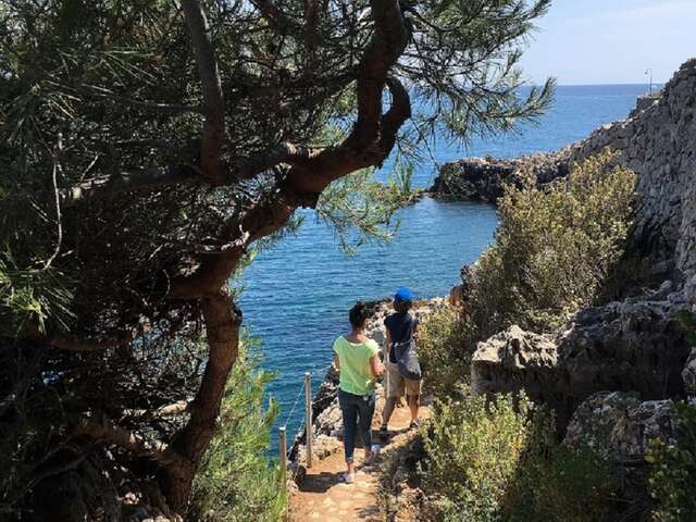
<path fill-rule="evenodd" d="M 602 391 L 575 411 L 564 444 L 583 446 L 619 463 L 644 463 L 651 438 L 674 440 L 678 420 L 671 400 L 642 402 L 635 394 Z"/>

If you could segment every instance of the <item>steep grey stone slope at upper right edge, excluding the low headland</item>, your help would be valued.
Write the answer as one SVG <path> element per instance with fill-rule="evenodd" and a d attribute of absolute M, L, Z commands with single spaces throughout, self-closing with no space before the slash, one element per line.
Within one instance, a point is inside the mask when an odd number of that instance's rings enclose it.
<path fill-rule="evenodd" d="M 642 203 L 635 238 L 688 274 L 696 270 L 695 101 L 696 60 L 691 60 L 659 97 L 642 101 L 629 119 L 598 128 L 571 153 L 574 161 L 604 147 L 620 152 L 621 161 L 638 174 Z"/>

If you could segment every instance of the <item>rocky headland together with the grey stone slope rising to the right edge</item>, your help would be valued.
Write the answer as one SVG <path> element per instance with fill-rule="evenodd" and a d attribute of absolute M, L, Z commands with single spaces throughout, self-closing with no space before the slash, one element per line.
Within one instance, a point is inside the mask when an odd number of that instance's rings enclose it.
<path fill-rule="evenodd" d="M 696 272 L 696 60 L 682 65 L 661 92 L 643 97 L 627 119 L 609 123 L 558 152 L 512 160 L 473 158 L 443 165 L 432 192 L 495 202 L 505 185 L 544 186 L 572 164 L 610 147 L 639 176 L 641 219 L 634 243 L 667 261 L 681 279 Z M 687 293 L 696 296 L 696 283 Z"/>

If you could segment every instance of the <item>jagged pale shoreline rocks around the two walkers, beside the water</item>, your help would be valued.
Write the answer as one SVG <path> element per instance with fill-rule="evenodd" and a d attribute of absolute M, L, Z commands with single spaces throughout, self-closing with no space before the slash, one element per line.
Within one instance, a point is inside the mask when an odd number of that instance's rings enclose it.
<path fill-rule="evenodd" d="M 442 297 L 417 301 L 413 313 L 419 320 L 423 320 L 437 308 L 445 306 L 445 302 L 446 299 Z M 391 313 L 391 301 L 386 299 L 374 301 L 371 304 L 374 312 L 365 334 L 383 349 L 386 338 L 384 319 Z M 377 390 L 381 387 L 382 384 L 378 383 Z M 314 458 L 321 459 L 340 449 L 343 419 L 338 407 L 338 372 L 333 362 L 326 370 L 319 390 L 312 399 L 312 455 Z M 288 465 L 296 481 L 300 481 L 304 474 L 306 450 L 304 425 L 302 424 L 299 433 L 295 435 L 288 458 Z"/>

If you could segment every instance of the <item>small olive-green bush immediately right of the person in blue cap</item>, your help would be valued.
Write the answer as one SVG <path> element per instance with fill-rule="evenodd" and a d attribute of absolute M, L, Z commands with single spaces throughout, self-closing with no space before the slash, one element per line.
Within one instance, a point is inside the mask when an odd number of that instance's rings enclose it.
<path fill-rule="evenodd" d="M 427 374 L 425 388 L 436 397 L 452 395 L 469 382 L 473 328 L 462 310 L 443 307 L 418 328 L 418 356 Z"/>

